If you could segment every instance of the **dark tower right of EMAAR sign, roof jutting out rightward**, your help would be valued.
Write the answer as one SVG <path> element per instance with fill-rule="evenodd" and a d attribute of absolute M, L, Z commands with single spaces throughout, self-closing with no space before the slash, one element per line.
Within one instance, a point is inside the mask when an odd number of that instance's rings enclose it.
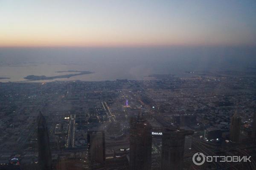
<path fill-rule="evenodd" d="M 185 136 L 194 131 L 164 128 L 162 135 L 161 170 L 182 170 Z"/>

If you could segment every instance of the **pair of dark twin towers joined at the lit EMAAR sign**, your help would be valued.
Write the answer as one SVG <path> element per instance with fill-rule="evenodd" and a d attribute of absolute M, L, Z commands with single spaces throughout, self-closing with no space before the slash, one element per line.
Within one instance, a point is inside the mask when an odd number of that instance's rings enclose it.
<path fill-rule="evenodd" d="M 182 170 L 185 136 L 193 133 L 177 127 L 153 130 L 144 118 L 131 118 L 130 170 L 151 169 L 152 138 L 162 139 L 161 170 Z"/>

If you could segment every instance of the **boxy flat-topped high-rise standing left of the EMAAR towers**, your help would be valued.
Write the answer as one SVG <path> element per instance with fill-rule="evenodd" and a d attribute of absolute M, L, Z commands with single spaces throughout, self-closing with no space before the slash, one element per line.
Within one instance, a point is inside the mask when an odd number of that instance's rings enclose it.
<path fill-rule="evenodd" d="M 92 162 L 105 162 L 105 133 L 104 131 L 87 132 L 89 159 Z"/>

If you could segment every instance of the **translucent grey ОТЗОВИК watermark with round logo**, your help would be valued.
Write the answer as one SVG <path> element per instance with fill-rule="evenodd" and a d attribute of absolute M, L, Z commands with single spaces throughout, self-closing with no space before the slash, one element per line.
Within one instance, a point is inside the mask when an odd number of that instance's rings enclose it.
<path fill-rule="evenodd" d="M 205 156 L 203 153 L 195 153 L 192 161 L 195 165 L 202 165 L 207 162 L 251 162 L 251 156 Z"/>

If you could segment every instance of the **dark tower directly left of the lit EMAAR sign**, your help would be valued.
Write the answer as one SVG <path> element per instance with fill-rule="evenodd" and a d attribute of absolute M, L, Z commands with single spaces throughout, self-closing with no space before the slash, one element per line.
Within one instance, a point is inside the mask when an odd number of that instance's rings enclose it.
<path fill-rule="evenodd" d="M 141 116 L 130 119 L 130 170 L 151 169 L 151 130 Z"/>

